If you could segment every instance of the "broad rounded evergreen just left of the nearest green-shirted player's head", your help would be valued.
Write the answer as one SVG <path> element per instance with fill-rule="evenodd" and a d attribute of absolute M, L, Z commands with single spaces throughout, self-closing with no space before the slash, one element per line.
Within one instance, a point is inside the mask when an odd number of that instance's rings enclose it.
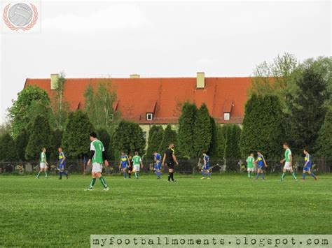
<path fill-rule="evenodd" d="M 90 119 L 85 112 L 70 112 L 62 138 L 62 146 L 71 158 L 82 157 L 90 149 L 89 133 L 94 131 Z"/>

